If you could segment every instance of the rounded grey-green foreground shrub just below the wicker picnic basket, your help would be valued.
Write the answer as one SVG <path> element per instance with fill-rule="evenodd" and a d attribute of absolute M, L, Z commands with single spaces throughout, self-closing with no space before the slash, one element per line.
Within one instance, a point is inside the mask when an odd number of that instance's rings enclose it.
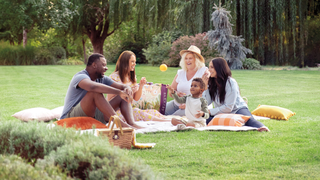
<path fill-rule="evenodd" d="M 155 179 L 147 165 L 132 160 L 107 139 L 83 136 L 52 151 L 36 166 L 60 166 L 69 176 L 80 179 Z"/>

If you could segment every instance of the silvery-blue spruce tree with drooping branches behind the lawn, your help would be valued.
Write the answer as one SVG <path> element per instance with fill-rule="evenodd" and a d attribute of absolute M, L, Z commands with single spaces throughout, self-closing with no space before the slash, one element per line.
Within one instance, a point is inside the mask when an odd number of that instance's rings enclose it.
<path fill-rule="evenodd" d="M 252 54 L 252 51 L 242 45 L 244 41 L 241 36 L 232 35 L 233 24 L 229 22 L 230 11 L 214 4 L 215 11 L 211 14 L 215 30 L 209 30 L 206 36 L 209 38 L 210 48 L 215 47 L 227 62 L 230 69 L 241 69 L 242 61 L 246 54 Z"/>

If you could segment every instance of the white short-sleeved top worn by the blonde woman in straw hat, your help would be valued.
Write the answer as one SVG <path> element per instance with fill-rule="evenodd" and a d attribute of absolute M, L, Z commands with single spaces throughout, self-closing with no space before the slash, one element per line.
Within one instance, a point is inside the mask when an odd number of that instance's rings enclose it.
<path fill-rule="evenodd" d="M 201 78 L 206 69 L 208 69 L 208 68 L 202 67 L 202 68 L 198 69 L 196 74 L 190 80 L 187 80 L 187 71 L 178 70 L 178 73 L 177 73 L 178 76 L 176 78 L 176 82 L 178 83 L 177 91 L 182 92 L 182 93 L 186 93 L 186 95 L 191 94 L 190 87 L 191 87 L 192 79 L 193 78 Z M 177 106 L 180 105 L 176 100 L 174 100 L 174 104 Z"/>

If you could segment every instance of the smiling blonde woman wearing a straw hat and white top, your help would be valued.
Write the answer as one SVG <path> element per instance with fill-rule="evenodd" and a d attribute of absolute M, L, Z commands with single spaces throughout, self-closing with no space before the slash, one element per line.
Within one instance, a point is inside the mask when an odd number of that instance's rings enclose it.
<path fill-rule="evenodd" d="M 180 67 L 174 77 L 171 87 L 179 97 L 190 94 L 190 86 L 193 78 L 201 78 L 208 69 L 204 65 L 204 58 L 198 47 L 191 45 L 188 50 L 180 51 Z M 172 97 L 171 93 L 169 93 Z M 186 104 L 179 104 L 175 100 L 167 103 L 165 115 L 185 116 Z"/>

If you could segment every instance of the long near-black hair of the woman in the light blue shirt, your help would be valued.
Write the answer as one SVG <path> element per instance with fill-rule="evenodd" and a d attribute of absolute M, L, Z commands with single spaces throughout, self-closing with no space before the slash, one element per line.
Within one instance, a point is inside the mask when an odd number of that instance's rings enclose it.
<path fill-rule="evenodd" d="M 209 78 L 209 94 L 214 101 L 216 96 L 219 96 L 221 104 L 224 103 L 226 96 L 226 84 L 229 81 L 229 77 L 232 77 L 231 70 L 225 59 L 217 57 L 211 60 L 214 70 L 217 72 L 217 78 Z M 230 83 L 231 85 L 231 83 Z"/>

